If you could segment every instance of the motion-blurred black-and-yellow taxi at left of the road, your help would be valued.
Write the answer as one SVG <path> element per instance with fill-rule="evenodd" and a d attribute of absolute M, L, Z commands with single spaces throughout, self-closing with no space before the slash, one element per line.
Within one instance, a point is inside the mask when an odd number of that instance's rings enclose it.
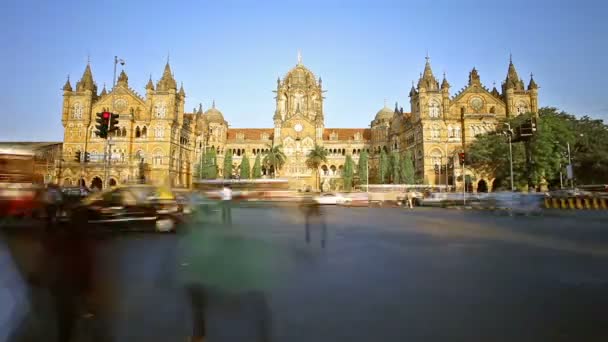
<path fill-rule="evenodd" d="M 72 224 L 102 229 L 175 232 L 183 215 L 173 192 L 151 185 L 113 188 L 72 209 Z"/>

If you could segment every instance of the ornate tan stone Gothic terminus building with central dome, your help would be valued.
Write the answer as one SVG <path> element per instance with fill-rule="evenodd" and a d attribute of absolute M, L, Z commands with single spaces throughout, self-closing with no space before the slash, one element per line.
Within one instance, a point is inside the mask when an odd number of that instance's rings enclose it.
<path fill-rule="evenodd" d="M 406 88 L 403 97 L 405 100 Z M 481 83 L 475 68 L 467 85 L 456 93 L 443 77 L 433 74 L 427 57 L 417 84 L 409 91 L 410 110 L 395 108 L 370 113 L 370 126 L 365 128 L 325 127 L 324 93 L 321 77 L 302 63 L 297 64 L 281 79 L 275 90 L 276 109 L 268 113 L 269 128 L 229 128 L 228 116 L 213 103 L 203 111 L 184 109 L 186 92 L 175 80 L 169 63 L 162 77 L 145 85 L 145 95 L 129 85 L 122 71 L 110 91 L 98 91 L 91 66 L 85 67 L 80 80 L 72 87 L 68 79 L 63 87 L 64 127 L 63 160 L 58 178 L 61 184 L 101 187 L 105 184 L 104 149 L 106 140 L 96 136 L 96 113 L 112 111 L 119 114 L 119 129 L 112 134 L 110 185 L 145 178 L 152 183 L 174 187 L 190 187 L 195 180 L 202 152 L 217 153 L 218 175 L 223 175 L 223 156 L 233 154 L 233 170 L 238 170 L 247 155 L 253 165 L 258 154 L 270 146 L 281 145 L 287 157 L 277 170 L 293 188 L 316 187 L 316 170 L 307 168 L 305 160 L 315 145 L 328 152 L 327 163 L 320 166 L 321 184 L 336 184 L 346 156 L 358 162 L 362 151 L 370 155 L 370 182 L 376 178 L 381 150 L 405 153 L 410 151 L 416 176 L 426 184 L 446 184 L 462 188 L 465 179 L 474 190 L 491 190 L 494 176 L 465 168 L 450 168 L 438 174 L 436 165 L 452 165 L 458 152 L 480 133 L 493 131 L 501 119 L 538 110 L 538 86 L 531 77 L 527 86 L 519 78 L 512 61 L 502 87 L 489 89 Z M 213 94 L 206 94 L 212 96 Z M 271 98 L 268 99 L 269 101 Z M 327 113 L 331 115 L 331 113 Z M 233 123 L 238 126 L 237 123 Z M 90 162 L 74 161 L 77 152 L 88 152 Z M 274 170 L 262 169 L 264 177 Z"/>

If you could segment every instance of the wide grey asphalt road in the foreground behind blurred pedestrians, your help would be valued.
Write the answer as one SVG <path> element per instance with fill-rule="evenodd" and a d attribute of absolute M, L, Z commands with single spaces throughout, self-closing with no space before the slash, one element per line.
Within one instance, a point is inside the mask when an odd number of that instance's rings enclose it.
<path fill-rule="evenodd" d="M 313 225 L 307 243 L 305 217 L 290 207 L 237 208 L 232 226 L 222 228 L 273 250 L 279 266 L 265 292 L 273 341 L 608 340 L 608 230 L 601 218 L 342 207 L 324 208 L 323 216 L 324 247 L 321 225 Z M 206 218 L 190 228 L 217 222 Z M 99 243 L 98 271 L 113 289 L 107 329 L 116 340 L 183 341 L 189 334 L 192 315 L 179 279 L 203 277 L 184 253 L 191 238 L 129 233 Z M 0 308 L 0 322 L 7 322 L 7 312 L 23 312 L 27 297 L 2 249 L 0 301 L 13 303 Z M 247 317 L 260 312 L 246 301 L 212 302 L 215 336 L 246 330 Z M 79 329 L 84 336 L 89 327 Z"/>

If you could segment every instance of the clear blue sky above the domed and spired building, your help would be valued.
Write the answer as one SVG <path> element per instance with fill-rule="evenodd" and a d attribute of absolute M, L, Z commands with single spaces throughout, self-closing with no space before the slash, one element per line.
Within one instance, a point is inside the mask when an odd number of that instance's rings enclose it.
<path fill-rule="evenodd" d="M 61 87 L 90 56 L 99 89 L 113 56 L 144 94 L 170 54 L 186 108 L 215 99 L 232 127 L 272 127 L 277 76 L 323 78 L 326 127 L 367 127 L 388 99 L 409 110 L 428 51 L 452 93 L 476 67 L 492 87 L 509 53 L 541 106 L 608 119 L 603 1 L 3 1 L 0 140 L 61 140 Z"/>

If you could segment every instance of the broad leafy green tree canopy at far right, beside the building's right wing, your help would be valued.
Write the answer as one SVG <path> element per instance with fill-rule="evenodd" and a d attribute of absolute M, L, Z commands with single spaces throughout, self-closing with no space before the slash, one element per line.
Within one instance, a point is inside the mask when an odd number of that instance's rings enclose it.
<path fill-rule="evenodd" d="M 517 127 L 532 114 L 524 114 L 506 120 Z M 502 188 L 508 188 L 509 144 L 506 125 L 496 132 L 477 136 L 467 147 L 467 163 L 478 170 L 496 175 L 502 180 Z M 538 112 L 538 127 L 529 141 L 531 152 L 531 181 L 535 185 L 560 184 L 560 171 L 565 174 L 568 164 L 568 146 L 578 184 L 608 183 L 608 127 L 602 120 L 587 116 L 575 116 L 545 107 Z M 514 142 L 513 178 L 515 186 L 525 187 L 527 179 L 524 142 Z"/>

